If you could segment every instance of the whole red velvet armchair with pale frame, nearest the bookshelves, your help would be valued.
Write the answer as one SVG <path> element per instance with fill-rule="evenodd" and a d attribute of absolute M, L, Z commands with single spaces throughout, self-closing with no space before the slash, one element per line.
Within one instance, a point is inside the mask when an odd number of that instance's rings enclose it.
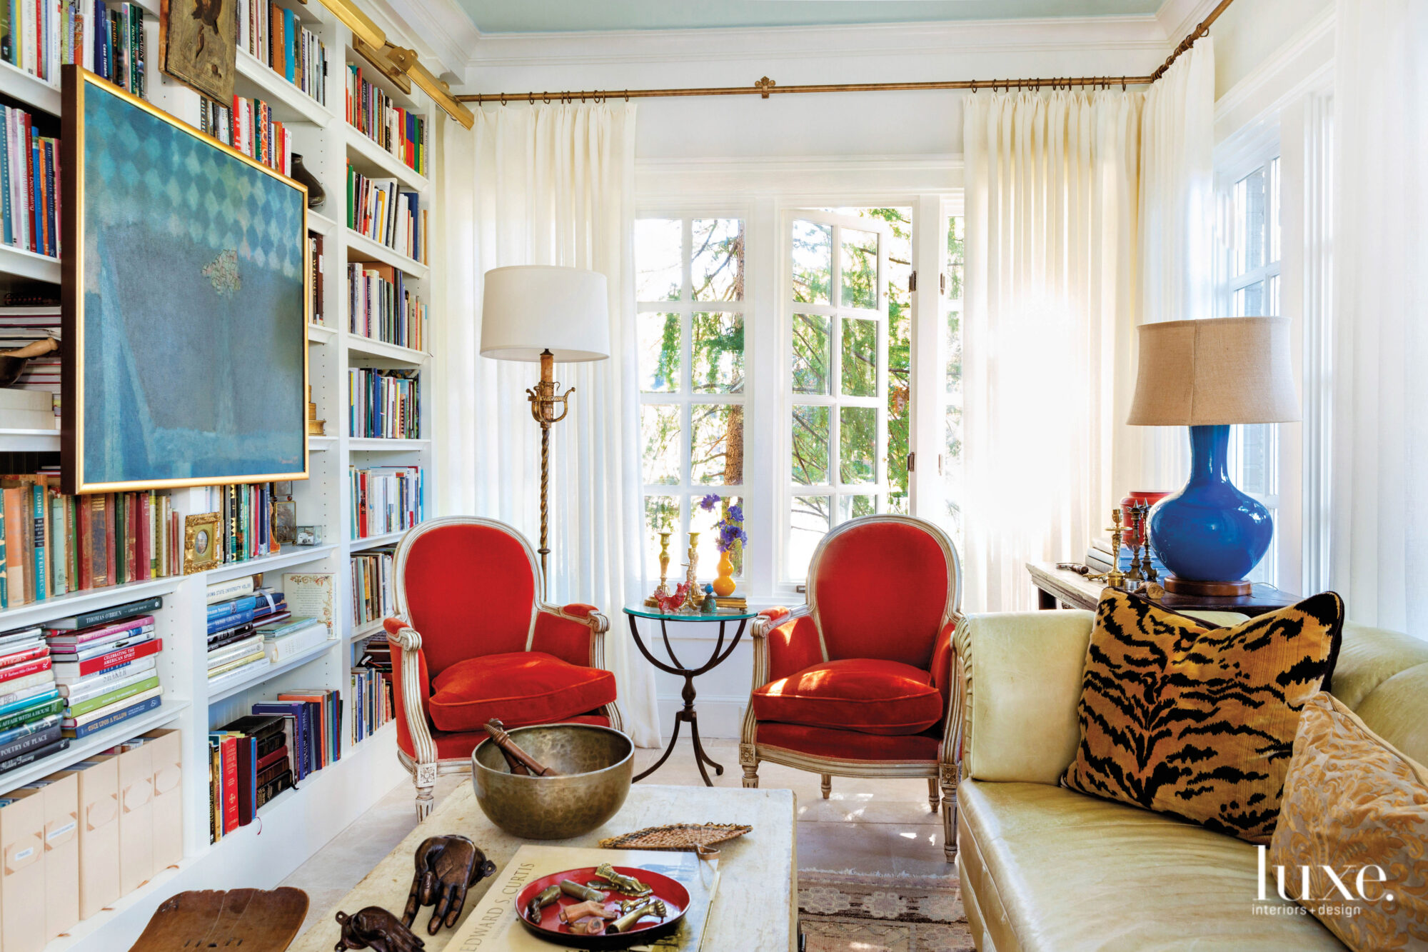
<path fill-rule="evenodd" d="M 418 819 L 440 773 L 470 772 L 490 718 L 620 729 L 604 669 L 610 623 L 590 605 L 544 605 L 536 552 L 518 532 L 476 516 L 433 519 L 401 537 L 394 575 L 400 618 L 386 628 L 397 756 Z"/>

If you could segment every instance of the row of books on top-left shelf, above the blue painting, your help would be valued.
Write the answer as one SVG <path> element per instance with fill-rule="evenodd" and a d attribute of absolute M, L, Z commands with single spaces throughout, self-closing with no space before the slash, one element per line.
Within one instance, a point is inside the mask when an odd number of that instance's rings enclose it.
<path fill-rule="evenodd" d="M 147 97 L 144 11 L 104 0 L 0 0 L 0 59 L 53 86 L 60 66 L 79 63 Z"/>

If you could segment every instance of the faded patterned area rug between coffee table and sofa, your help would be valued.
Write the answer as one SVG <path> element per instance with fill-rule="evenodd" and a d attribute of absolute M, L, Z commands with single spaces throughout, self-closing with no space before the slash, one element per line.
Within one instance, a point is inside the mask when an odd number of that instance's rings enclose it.
<path fill-rule="evenodd" d="M 972 952 L 957 876 L 798 871 L 807 952 Z"/>

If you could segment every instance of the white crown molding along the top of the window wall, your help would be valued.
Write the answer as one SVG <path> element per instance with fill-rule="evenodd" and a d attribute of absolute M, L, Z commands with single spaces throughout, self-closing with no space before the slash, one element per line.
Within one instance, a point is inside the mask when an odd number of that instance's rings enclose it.
<path fill-rule="evenodd" d="M 441 0 L 450 3 L 451 0 Z M 1157 17 L 1057 17 L 795 27 L 488 33 L 467 66 L 590 66 L 698 60 L 907 57 L 935 53 L 1162 51 Z"/>

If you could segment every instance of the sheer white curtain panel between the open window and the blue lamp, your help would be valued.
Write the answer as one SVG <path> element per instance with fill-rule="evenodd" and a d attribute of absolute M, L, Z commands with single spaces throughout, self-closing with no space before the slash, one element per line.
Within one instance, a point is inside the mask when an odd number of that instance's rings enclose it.
<path fill-rule="evenodd" d="M 1114 373 L 1135 323 L 1135 91 L 965 100 L 967 606 L 1028 608 L 1112 493 Z"/>

